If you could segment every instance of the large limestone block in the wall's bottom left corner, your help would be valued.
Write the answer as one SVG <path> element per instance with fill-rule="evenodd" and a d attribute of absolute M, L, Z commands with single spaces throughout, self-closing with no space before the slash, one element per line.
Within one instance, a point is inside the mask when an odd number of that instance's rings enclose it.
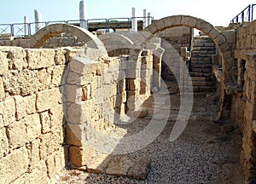
<path fill-rule="evenodd" d="M 28 153 L 25 147 L 11 152 L 7 157 L 0 159 L 0 183 L 10 183 L 24 174 L 28 168 Z"/>

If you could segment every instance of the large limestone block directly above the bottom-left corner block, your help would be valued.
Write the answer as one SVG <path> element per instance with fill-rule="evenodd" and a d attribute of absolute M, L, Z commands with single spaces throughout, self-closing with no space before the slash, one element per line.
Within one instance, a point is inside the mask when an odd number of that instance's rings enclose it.
<path fill-rule="evenodd" d="M 38 114 L 32 114 L 8 127 L 11 147 L 21 147 L 41 134 L 41 124 Z"/>

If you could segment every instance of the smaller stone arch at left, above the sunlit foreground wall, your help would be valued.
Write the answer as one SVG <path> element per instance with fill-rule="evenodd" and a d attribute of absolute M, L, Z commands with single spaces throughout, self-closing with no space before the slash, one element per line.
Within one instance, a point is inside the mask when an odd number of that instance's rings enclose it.
<path fill-rule="evenodd" d="M 71 33 L 73 36 L 79 37 L 80 42 L 86 44 L 86 47 L 98 49 L 102 55 L 108 55 L 104 44 L 98 37 L 84 28 L 68 24 L 53 24 L 40 29 L 31 37 L 32 48 L 43 48 L 49 37 L 55 37 L 62 32 Z"/>

